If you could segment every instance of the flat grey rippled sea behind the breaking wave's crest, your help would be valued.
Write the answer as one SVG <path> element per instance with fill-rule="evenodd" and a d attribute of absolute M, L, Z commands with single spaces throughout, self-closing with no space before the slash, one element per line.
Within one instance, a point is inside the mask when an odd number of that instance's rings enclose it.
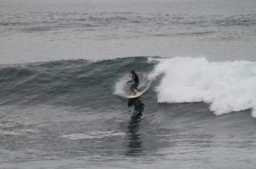
<path fill-rule="evenodd" d="M 254 0 L 1 0 L 3 64 L 128 56 L 255 61 Z"/>

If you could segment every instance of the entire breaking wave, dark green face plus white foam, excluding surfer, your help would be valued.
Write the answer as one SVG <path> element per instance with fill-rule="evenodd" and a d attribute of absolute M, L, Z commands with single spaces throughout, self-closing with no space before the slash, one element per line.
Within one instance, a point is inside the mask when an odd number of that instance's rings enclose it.
<path fill-rule="evenodd" d="M 150 103 L 205 102 L 215 115 L 252 109 L 256 116 L 256 63 L 204 58 L 61 60 L 2 65 L 0 104 L 49 104 L 117 109 L 114 95 L 129 95 L 129 70 L 137 68 Z M 150 87 L 149 87 L 150 86 Z M 154 109 L 154 108 L 152 108 Z"/>

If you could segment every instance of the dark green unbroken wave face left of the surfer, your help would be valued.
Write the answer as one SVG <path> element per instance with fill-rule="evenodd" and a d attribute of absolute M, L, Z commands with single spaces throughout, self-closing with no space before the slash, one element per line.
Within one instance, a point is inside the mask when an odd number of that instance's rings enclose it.
<path fill-rule="evenodd" d="M 114 106 L 113 87 L 129 75 L 153 69 L 147 58 L 110 59 L 90 62 L 61 60 L 0 67 L 0 104 L 49 104 L 99 108 Z M 127 76 L 128 77 L 128 76 Z"/>

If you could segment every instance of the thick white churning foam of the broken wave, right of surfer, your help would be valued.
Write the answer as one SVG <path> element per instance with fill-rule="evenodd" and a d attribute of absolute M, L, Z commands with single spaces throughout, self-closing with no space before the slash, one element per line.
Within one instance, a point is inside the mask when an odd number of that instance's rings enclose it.
<path fill-rule="evenodd" d="M 156 87 L 158 102 L 206 102 L 215 115 L 252 109 L 256 117 L 256 63 L 209 62 L 205 58 L 160 59 L 150 79 L 163 75 Z"/>

